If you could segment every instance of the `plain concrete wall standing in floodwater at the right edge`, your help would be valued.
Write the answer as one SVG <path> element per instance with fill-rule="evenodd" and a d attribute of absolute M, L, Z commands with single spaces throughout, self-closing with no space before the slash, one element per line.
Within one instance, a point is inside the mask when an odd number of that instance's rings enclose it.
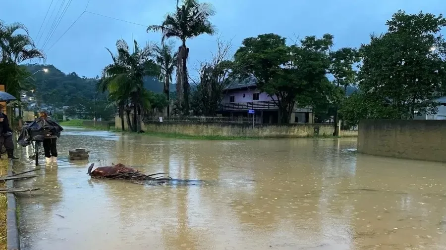
<path fill-rule="evenodd" d="M 363 120 L 358 131 L 360 153 L 446 162 L 446 121 Z"/>

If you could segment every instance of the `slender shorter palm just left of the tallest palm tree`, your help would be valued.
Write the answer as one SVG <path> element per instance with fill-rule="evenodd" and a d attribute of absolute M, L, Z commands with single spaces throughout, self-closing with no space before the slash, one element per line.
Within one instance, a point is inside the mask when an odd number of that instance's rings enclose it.
<path fill-rule="evenodd" d="M 174 42 L 168 44 L 162 44 L 155 47 L 155 61 L 158 63 L 161 69 L 160 80 L 164 81 L 164 93 L 167 96 L 167 101 L 170 100 L 170 83 L 172 82 L 173 70 L 175 69 L 175 62 L 178 52 L 173 53 Z M 169 102 L 170 104 L 170 102 Z M 170 116 L 170 105 L 167 105 L 167 117 Z"/>

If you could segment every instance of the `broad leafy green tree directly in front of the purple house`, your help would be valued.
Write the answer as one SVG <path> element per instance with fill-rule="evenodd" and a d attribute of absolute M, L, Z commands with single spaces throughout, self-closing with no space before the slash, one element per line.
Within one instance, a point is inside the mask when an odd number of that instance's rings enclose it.
<path fill-rule="evenodd" d="M 295 101 L 310 104 L 327 98 L 330 82 L 329 50 L 333 36 L 305 37 L 298 44 L 286 45 L 276 34 L 243 40 L 235 53 L 237 70 L 242 77 L 257 80 L 257 87 L 268 93 L 279 107 L 280 123 L 289 123 Z M 275 98 L 276 97 L 276 98 Z"/>

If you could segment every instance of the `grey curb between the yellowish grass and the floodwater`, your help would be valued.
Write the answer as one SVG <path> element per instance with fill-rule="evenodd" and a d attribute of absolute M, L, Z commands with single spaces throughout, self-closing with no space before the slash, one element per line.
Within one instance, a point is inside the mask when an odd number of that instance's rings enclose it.
<path fill-rule="evenodd" d="M 8 160 L 8 175 L 12 175 L 12 160 Z M 14 180 L 6 181 L 6 188 L 13 188 Z M 20 250 L 20 236 L 17 222 L 17 200 L 14 193 L 6 194 L 8 209 L 6 211 L 7 250 Z"/>

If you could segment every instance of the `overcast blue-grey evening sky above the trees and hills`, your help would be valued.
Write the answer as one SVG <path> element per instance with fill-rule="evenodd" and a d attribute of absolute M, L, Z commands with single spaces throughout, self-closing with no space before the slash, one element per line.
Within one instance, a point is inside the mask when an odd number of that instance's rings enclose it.
<path fill-rule="evenodd" d="M 176 0 L 73 0 L 50 36 L 50 27 L 63 1 L 4 0 L 0 19 L 6 23 L 19 21 L 25 24 L 37 46 L 46 53 L 47 64 L 53 64 L 64 73 L 76 72 L 86 77 L 101 75 L 104 66 L 111 63 L 105 47 L 115 51 L 117 39 L 122 38 L 129 44 L 132 38 L 140 44 L 161 42 L 161 35 L 147 33 L 146 26 L 161 24 L 165 14 L 173 11 L 176 4 Z M 266 33 L 276 33 L 289 39 L 296 36 L 321 37 L 330 33 L 335 37 L 334 48 L 359 47 L 361 43 L 370 41 L 370 34 L 386 32 L 386 21 L 398 9 L 408 13 L 446 12 L 444 0 L 205 1 L 212 3 L 217 10 L 211 22 L 217 26 L 223 40 L 232 41 L 234 52 L 243 39 Z M 51 3 L 47 20 L 43 23 Z M 84 12 L 85 9 L 135 24 Z M 210 59 L 211 53 L 216 51 L 216 39 L 217 36 L 202 35 L 187 41 L 191 75 L 194 75 L 193 68 L 199 62 Z"/>

